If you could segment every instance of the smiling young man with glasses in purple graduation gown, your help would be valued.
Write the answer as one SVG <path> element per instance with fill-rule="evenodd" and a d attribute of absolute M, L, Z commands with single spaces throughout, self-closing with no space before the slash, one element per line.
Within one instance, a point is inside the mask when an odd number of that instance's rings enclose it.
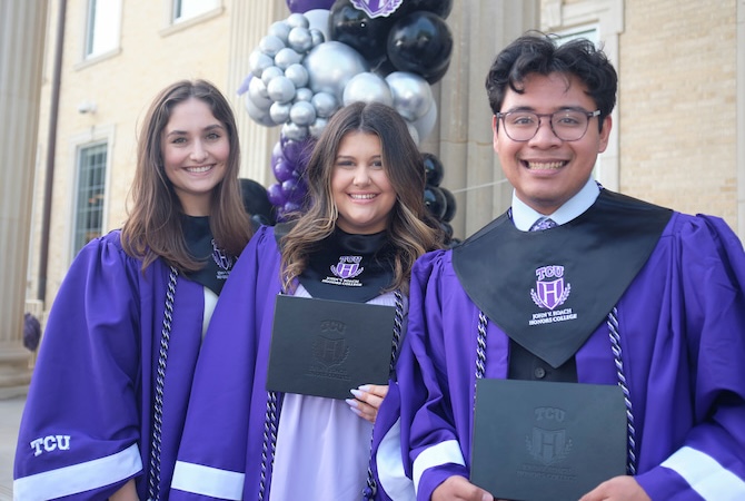
<path fill-rule="evenodd" d="M 493 499 L 468 479 L 476 382 L 498 379 L 622 387 L 627 474 L 582 501 L 745 499 L 743 246 L 719 218 L 592 179 L 616 87 L 587 40 L 527 35 L 495 59 L 486 88 L 513 205 L 414 267 L 398 386 L 376 424 L 381 497 Z M 387 449 L 397 433 L 400 454 Z"/>

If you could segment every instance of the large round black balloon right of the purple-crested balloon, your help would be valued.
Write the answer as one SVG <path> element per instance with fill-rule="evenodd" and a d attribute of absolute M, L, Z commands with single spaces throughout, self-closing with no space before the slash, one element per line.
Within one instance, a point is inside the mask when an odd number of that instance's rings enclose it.
<path fill-rule="evenodd" d="M 439 16 L 416 11 L 395 22 L 388 32 L 387 55 L 399 71 L 438 81 L 450 66 L 453 33 Z"/>

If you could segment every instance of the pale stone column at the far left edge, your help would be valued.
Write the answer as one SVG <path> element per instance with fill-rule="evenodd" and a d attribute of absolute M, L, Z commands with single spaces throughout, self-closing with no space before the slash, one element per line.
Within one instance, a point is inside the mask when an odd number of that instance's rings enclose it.
<path fill-rule="evenodd" d="M 0 0 L 0 396 L 24 391 L 23 347 L 47 0 Z"/>

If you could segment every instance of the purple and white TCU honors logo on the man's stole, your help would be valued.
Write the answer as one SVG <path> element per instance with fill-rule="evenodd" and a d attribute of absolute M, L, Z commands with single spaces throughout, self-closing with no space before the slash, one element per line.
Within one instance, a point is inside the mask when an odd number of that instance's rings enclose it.
<path fill-rule="evenodd" d="M 564 304 L 572 292 L 572 285 L 564 281 L 564 266 L 542 266 L 536 269 L 536 288 L 530 289 L 530 297 L 536 306 L 548 312 L 534 313 L 528 325 L 577 318 L 572 308 L 556 310 Z"/>

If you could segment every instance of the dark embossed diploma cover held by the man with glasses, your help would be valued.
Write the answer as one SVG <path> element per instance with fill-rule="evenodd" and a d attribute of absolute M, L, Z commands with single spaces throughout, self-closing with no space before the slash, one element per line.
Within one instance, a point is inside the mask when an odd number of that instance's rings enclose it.
<path fill-rule="evenodd" d="M 576 500 L 626 474 L 615 385 L 479 380 L 470 481 L 497 499 Z"/>

